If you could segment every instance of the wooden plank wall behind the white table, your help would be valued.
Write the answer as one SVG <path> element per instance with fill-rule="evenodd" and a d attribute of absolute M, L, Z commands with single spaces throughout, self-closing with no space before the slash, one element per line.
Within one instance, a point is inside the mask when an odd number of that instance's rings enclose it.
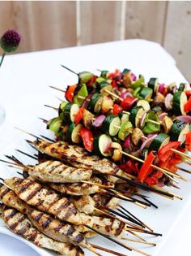
<path fill-rule="evenodd" d="M 104 41 L 157 41 L 191 80 L 191 2 L 162 1 L 2 1 L 0 34 L 16 28 L 20 52 Z"/>

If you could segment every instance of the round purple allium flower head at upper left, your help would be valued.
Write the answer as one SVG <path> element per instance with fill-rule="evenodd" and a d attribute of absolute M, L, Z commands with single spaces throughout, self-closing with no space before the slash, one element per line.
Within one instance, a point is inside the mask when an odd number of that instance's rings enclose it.
<path fill-rule="evenodd" d="M 0 39 L 0 45 L 5 53 L 11 53 L 17 50 L 21 36 L 14 29 L 9 29 Z"/>

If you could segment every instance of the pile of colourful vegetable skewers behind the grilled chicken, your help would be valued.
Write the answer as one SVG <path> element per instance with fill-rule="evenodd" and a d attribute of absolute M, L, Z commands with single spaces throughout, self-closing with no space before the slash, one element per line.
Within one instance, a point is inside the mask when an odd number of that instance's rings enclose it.
<path fill-rule="evenodd" d="M 57 141 L 110 158 L 141 183 L 174 186 L 174 177 L 182 178 L 176 165 L 191 163 L 189 85 L 146 83 L 128 69 L 76 75 L 79 83 L 64 91 L 67 102 L 53 107 L 58 116 L 43 119 Z"/>

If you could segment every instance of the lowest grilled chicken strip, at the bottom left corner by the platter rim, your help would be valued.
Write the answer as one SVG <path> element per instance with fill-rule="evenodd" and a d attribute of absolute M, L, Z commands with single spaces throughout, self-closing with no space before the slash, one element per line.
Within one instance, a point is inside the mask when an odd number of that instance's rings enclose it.
<path fill-rule="evenodd" d="M 5 221 L 8 228 L 12 232 L 23 236 L 28 241 L 32 241 L 33 244 L 46 249 L 52 249 L 59 254 L 66 256 L 82 256 L 83 250 L 75 245 L 69 243 L 63 243 L 54 241 L 53 239 L 45 236 L 39 232 L 36 228 L 32 227 L 32 223 L 27 219 L 25 215 L 13 208 L 5 208 L 2 213 L 2 219 Z"/>

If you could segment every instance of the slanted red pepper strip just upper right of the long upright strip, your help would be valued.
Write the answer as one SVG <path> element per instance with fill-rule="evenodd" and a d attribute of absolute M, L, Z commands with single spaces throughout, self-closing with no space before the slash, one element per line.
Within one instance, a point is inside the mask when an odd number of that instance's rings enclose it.
<path fill-rule="evenodd" d="M 158 151 L 158 156 L 161 162 L 168 161 L 168 158 L 174 154 L 174 152 L 171 149 L 176 150 L 180 145 L 180 141 L 170 141 L 167 145 L 164 145 L 161 149 Z"/>

